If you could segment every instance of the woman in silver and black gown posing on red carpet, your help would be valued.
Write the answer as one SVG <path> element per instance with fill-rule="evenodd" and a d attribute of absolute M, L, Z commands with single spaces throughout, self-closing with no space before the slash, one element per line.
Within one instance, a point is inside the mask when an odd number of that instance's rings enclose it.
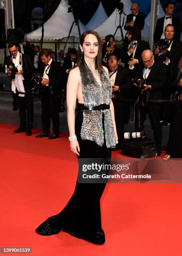
<path fill-rule="evenodd" d="M 95 31 L 85 31 L 80 38 L 77 67 L 67 82 L 67 121 L 70 148 L 81 158 L 110 159 L 111 148 L 118 141 L 112 86 L 108 70 L 101 65 L 102 48 Z M 75 120 L 75 106 L 78 113 Z M 81 172 L 79 161 L 79 171 Z M 40 235 L 61 230 L 95 244 L 105 242 L 101 226 L 100 198 L 105 183 L 79 183 L 66 207 L 45 220 L 37 229 Z"/>

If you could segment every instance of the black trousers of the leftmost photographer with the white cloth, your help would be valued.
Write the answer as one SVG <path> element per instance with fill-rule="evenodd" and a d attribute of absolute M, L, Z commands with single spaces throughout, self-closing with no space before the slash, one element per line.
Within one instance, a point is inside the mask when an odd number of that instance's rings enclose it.
<path fill-rule="evenodd" d="M 32 128 L 33 127 L 33 97 L 25 95 L 25 97 L 17 96 L 17 103 L 20 115 L 20 126 Z M 26 116 L 27 109 L 27 116 Z"/>

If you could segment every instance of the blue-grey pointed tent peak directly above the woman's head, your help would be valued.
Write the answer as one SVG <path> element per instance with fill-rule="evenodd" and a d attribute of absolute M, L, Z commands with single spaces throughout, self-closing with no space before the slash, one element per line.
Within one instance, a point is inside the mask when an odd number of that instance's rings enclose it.
<path fill-rule="evenodd" d="M 92 16 L 92 18 L 90 19 L 90 21 L 87 23 L 85 27 L 86 29 L 95 30 L 95 28 L 102 25 L 102 23 L 104 23 L 105 20 L 107 20 L 107 18 L 108 16 L 104 10 L 102 3 L 100 2 L 100 5 L 98 6 L 96 12 L 94 13 L 94 15 Z"/>

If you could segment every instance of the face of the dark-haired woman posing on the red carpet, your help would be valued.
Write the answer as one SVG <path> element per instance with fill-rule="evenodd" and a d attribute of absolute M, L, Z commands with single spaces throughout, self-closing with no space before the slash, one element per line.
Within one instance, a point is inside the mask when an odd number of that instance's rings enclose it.
<path fill-rule="evenodd" d="M 80 49 L 84 52 L 85 57 L 94 59 L 99 51 L 99 43 L 96 36 L 93 34 L 85 36 L 83 45 L 80 45 Z"/>

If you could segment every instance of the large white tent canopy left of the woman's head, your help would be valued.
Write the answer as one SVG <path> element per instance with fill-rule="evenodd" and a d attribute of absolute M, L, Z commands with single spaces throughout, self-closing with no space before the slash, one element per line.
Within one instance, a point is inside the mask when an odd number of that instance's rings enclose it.
<path fill-rule="evenodd" d="M 52 14 L 52 16 L 44 23 L 44 40 L 46 39 L 60 39 L 63 37 L 67 37 L 70 31 L 70 27 L 72 22 L 74 21 L 74 17 L 72 13 L 67 13 L 67 6 L 60 5 Z M 83 33 L 86 28 L 83 23 L 79 20 L 80 32 Z M 25 36 L 28 40 L 40 40 L 42 35 L 42 28 L 37 28 L 35 31 L 31 33 L 27 33 Z M 77 36 L 78 28 L 77 26 L 73 26 L 72 32 L 70 36 Z"/>

